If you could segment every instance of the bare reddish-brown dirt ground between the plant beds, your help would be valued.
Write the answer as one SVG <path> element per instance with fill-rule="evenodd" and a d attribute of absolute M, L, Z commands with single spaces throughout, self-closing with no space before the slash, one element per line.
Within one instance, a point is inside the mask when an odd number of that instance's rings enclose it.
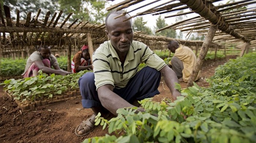
<path fill-rule="evenodd" d="M 236 57 L 227 56 L 224 59 L 205 61 L 201 69 L 202 79 L 196 83 L 207 87 L 209 84 L 205 79 L 214 74 L 215 68 Z M 181 82 L 181 87 L 186 87 L 186 84 Z M 158 90 L 161 94 L 154 97 L 157 102 L 171 96 L 164 82 L 160 83 Z M 102 127 L 98 126 L 86 136 L 76 136 L 74 133 L 76 126 L 93 114 L 90 109 L 79 110 L 81 108 L 79 96 L 66 102 L 37 107 L 35 111 L 21 112 L 17 104 L 5 95 L 3 87 L 0 86 L 0 142 L 80 143 L 86 138 L 108 134 L 107 129 L 102 130 Z"/>

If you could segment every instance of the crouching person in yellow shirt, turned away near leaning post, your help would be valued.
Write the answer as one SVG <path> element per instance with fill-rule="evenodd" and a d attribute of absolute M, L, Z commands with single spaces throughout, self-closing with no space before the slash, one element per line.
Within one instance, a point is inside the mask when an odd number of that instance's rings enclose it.
<path fill-rule="evenodd" d="M 189 76 L 196 64 L 195 53 L 189 47 L 179 44 L 176 40 L 169 42 L 168 49 L 174 53 L 169 64 L 172 65 L 179 82 L 188 82 Z M 200 76 L 201 72 L 199 71 L 196 80 L 198 80 Z"/>

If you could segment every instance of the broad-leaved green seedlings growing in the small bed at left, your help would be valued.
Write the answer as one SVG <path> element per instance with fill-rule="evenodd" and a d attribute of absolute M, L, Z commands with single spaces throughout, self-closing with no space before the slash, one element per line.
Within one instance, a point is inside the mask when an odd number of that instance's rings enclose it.
<path fill-rule="evenodd" d="M 48 76 L 39 72 L 39 75 L 35 77 L 10 79 L 0 84 L 4 85 L 4 90 L 14 96 L 14 99 L 34 101 L 78 90 L 78 80 L 86 72 L 88 71 L 84 70 L 65 76 L 55 74 Z"/>

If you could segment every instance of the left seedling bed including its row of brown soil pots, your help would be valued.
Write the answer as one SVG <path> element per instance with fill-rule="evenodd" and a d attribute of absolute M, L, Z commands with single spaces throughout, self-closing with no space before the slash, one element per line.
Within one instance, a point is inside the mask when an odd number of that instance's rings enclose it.
<path fill-rule="evenodd" d="M 5 80 L 5 94 L 14 100 L 22 111 L 63 102 L 80 96 L 78 79 L 87 70 L 66 76 L 39 72 L 38 76 Z"/>

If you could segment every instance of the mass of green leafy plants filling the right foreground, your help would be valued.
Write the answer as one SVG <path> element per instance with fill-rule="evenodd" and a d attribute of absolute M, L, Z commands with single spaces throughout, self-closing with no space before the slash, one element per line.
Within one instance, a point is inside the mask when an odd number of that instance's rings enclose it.
<path fill-rule="evenodd" d="M 109 134 L 114 135 L 85 139 L 83 143 L 254 143 L 255 82 L 247 83 L 255 80 L 256 65 L 248 62 L 254 58 L 254 55 L 246 55 L 230 60 L 227 65 L 233 67 L 242 62 L 250 72 L 242 74 L 237 67 L 218 68 L 212 79 L 217 80 L 209 88 L 194 83 L 192 87 L 181 89 L 177 84 L 182 96 L 174 102 L 168 98 L 161 103 L 144 99 L 140 103 L 145 112 L 135 114 L 136 108 L 121 108 L 117 110 L 117 117 L 110 120 L 97 115 L 96 124 L 108 127 Z M 241 75 L 237 77 L 234 73 Z M 247 83 L 247 90 L 229 86 L 227 89 L 232 92 L 222 94 L 222 84 L 226 82 L 221 79 L 227 77 L 229 80 L 225 81 L 232 84 Z"/>

